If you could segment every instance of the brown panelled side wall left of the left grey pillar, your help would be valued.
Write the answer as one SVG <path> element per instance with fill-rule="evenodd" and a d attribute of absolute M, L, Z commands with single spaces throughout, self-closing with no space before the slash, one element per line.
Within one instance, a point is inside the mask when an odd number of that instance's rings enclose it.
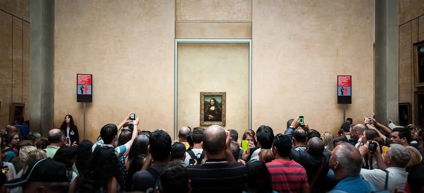
<path fill-rule="evenodd" d="M 23 116 L 29 119 L 29 4 L 29 0 L 0 1 L 1 127 L 13 121 L 13 103 L 24 103 Z"/>

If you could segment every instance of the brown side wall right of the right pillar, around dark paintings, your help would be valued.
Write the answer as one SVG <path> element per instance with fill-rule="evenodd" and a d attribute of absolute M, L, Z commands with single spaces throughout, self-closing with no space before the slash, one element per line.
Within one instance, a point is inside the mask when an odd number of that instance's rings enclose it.
<path fill-rule="evenodd" d="M 415 87 L 413 44 L 424 40 L 424 3 L 420 0 L 399 1 L 399 102 L 411 103 L 411 123 L 418 124 L 417 94 L 424 88 Z"/>

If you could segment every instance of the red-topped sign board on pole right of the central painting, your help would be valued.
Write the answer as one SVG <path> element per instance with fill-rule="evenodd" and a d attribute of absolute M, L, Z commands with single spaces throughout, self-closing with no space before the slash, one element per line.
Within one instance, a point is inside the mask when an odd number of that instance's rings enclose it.
<path fill-rule="evenodd" d="M 352 103 L 352 76 L 350 75 L 337 76 L 337 103 L 338 104 Z"/>

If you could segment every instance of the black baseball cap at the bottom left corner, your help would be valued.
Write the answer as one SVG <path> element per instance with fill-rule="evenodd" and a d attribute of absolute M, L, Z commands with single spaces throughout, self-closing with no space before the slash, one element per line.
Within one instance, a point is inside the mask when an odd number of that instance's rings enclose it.
<path fill-rule="evenodd" d="M 7 181 L 4 186 L 16 188 L 30 182 L 68 182 L 66 166 L 51 158 L 36 160 L 28 165 L 21 178 Z"/>

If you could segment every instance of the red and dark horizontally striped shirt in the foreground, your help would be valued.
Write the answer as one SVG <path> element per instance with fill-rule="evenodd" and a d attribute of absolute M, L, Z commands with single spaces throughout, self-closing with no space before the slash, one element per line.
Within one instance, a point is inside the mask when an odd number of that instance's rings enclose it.
<path fill-rule="evenodd" d="M 285 193 L 298 193 L 309 189 L 305 169 L 293 160 L 272 160 L 266 163 L 271 174 L 272 190 Z"/>

